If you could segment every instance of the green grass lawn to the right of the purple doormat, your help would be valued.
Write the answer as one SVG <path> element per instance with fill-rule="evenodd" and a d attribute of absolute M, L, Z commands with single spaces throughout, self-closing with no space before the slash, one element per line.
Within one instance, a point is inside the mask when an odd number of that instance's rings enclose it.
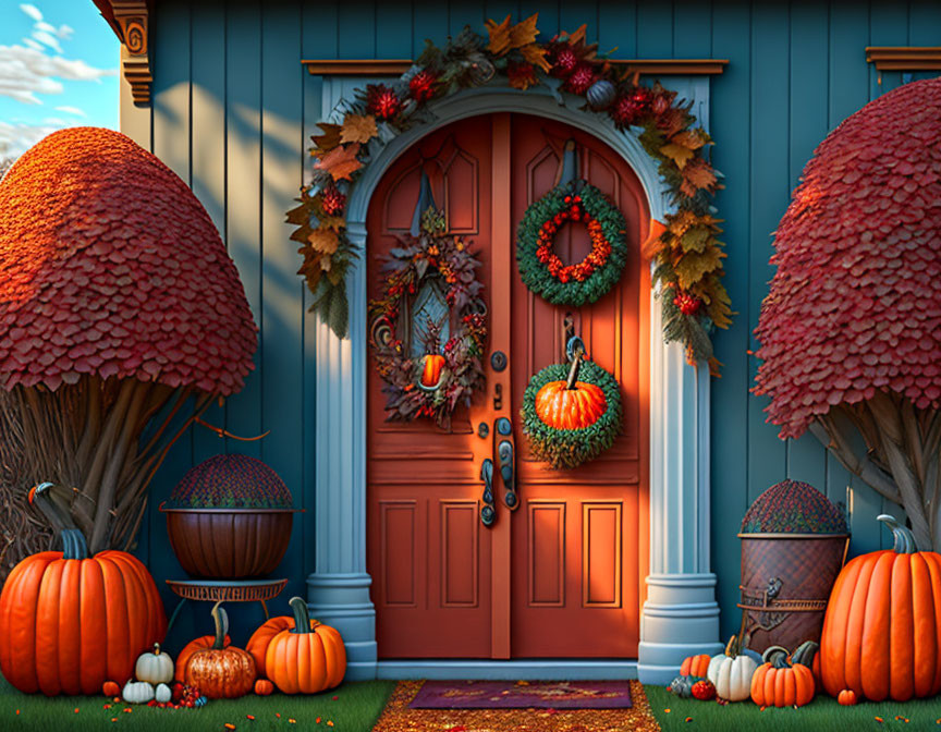
<path fill-rule="evenodd" d="M 662 686 L 646 686 L 650 709 L 663 732 L 716 730 L 725 732 L 857 732 L 857 730 L 938 730 L 941 697 L 896 703 L 860 703 L 841 707 L 836 699 L 818 696 L 799 709 L 758 709 L 750 700 L 722 706 L 716 701 L 681 699 Z M 664 710 L 670 709 L 667 713 Z M 895 717 L 907 718 L 896 720 Z M 686 718 L 692 718 L 686 721 Z M 881 717 L 882 722 L 876 718 Z"/>

